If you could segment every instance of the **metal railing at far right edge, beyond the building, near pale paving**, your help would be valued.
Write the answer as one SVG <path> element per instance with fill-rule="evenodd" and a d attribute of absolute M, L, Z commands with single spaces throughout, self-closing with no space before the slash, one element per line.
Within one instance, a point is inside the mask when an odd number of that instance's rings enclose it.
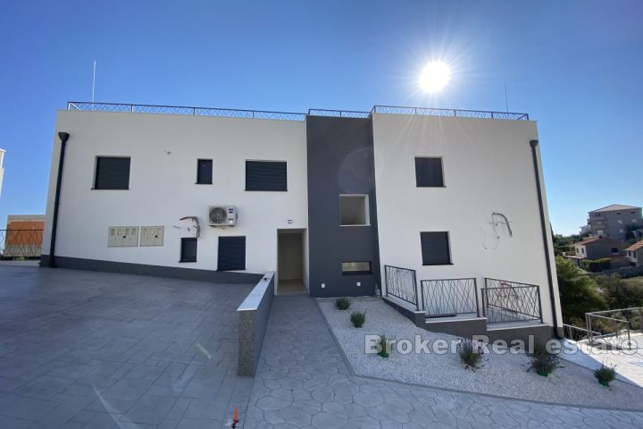
<path fill-rule="evenodd" d="M 643 307 L 585 313 L 585 323 L 589 344 L 604 341 L 615 348 L 632 349 L 631 332 L 643 331 Z"/>

